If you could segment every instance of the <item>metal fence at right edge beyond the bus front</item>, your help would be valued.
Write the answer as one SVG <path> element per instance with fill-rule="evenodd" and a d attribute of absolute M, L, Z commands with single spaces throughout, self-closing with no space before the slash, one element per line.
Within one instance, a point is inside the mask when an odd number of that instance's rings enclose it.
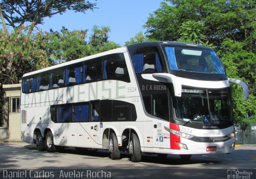
<path fill-rule="evenodd" d="M 256 123 L 249 124 L 245 131 L 235 126 L 236 144 L 256 144 Z"/>

